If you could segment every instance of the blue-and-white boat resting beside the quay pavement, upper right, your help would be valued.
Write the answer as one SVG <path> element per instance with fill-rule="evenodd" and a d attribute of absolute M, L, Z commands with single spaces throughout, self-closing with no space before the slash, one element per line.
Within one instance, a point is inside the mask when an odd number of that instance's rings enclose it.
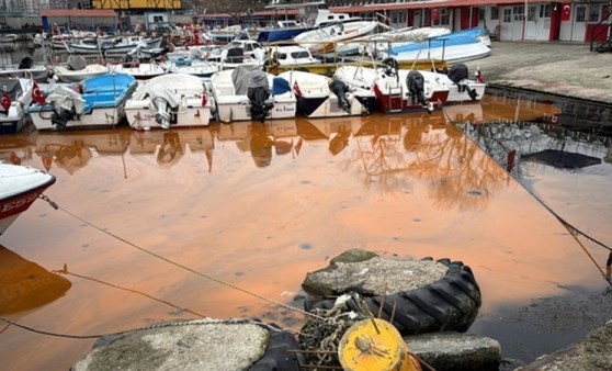
<path fill-rule="evenodd" d="M 378 53 L 378 58 L 393 57 L 398 61 L 433 58 L 461 63 L 484 58 L 490 53 L 490 38 L 487 31 L 481 27 L 472 27 L 422 42 L 393 46 L 387 53 Z"/>

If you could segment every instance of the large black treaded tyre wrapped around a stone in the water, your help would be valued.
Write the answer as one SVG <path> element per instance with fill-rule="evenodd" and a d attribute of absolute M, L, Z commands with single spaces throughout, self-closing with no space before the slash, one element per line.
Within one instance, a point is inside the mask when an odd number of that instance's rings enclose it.
<path fill-rule="evenodd" d="M 469 267 L 461 261 L 440 259 L 446 266 L 446 274 L 432 284 L 404 291 L 398 294 L 363 297 L 370 311 L 376 315 L 381 305 L 381 318 L 390 322 L 401 335 L 417 335 L 437 331 L 466 331 L 476 319 L 481 305 L 480 288 Z M 383 303 L 384 301 L 384 303 Z M 304 306 L 310 312 L 314 308 L 330 310 L 335 299 L 313 302 L 306 300 Z M 353 299 L 347 302 L 350 311 L 360 312 Z"/>

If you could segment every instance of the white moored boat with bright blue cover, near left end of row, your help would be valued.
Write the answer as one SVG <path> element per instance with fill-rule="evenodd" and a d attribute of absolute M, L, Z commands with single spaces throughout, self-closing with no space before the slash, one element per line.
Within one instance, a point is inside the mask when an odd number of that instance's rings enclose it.
<path fill-rule="evenodd" d="M 39 131 L 114 127 L 125 117 L 125 102 L 136 86 L 133 76 L 114 72 L 81 83 L 55 83 L 45 104 L 30 106 L 30 116 Z"/>

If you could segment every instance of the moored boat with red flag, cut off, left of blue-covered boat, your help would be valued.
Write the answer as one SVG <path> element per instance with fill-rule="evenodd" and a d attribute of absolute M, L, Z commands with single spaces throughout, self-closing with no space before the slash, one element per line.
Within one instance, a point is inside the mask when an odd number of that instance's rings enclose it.
<path fill-rule="evenodd" d="M 15 134 L 25 124 L 26 109 L 32 103 L 31 79 L 0 77 L 0 134 Z"/>

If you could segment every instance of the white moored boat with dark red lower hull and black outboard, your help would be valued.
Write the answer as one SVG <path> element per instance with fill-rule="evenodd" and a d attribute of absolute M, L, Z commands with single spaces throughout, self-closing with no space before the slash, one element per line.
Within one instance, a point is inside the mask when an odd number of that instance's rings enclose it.
<path fill-rule="evenodd" d="M 335 77 L 349 86 L 371 90 L 383 113 L 440 110 L 449 99 L 449 87 L 429 71 L 396 68 L 339 67 Z"/>

